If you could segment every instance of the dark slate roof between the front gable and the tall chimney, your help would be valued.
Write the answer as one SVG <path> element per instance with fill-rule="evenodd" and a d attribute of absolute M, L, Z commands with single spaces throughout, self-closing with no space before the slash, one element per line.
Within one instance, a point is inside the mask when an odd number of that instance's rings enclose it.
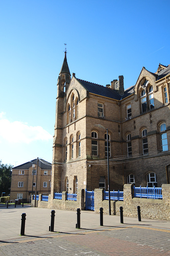
<path fill-rule="evenodd" d="M 111 88 L 107 88 L 105 86 L 99 85 L 99 84 L 94 84 L 88 81 L 84 81 L 81 79 L 78 79 L 78 82 L 80 82 L 80 84 L 82 84 L 82 86 L 89 92 L 97 94 L 97 95 L 101 95 L 107 98 L 111 98 L 114 100 L 120 100 L 121 99 L 121 95 L 117 93 L 116 90 L 112 90 Z"/>

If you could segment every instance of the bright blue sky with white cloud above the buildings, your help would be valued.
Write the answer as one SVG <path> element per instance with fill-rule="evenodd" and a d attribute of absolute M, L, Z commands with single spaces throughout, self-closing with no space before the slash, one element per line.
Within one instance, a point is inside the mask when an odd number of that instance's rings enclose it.
<path fill-rule="evenodd" d="M 170 64 L 170 1 L 0 1 L 0 160 L 52 162 L 57 78 L 133 86 Z"/>

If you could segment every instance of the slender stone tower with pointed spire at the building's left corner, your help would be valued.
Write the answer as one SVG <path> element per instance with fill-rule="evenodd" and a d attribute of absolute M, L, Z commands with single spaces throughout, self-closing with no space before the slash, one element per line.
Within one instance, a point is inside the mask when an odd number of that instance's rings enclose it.
<path fill-rule="evenodd" d="M 64 94 L 68 89 L 71 80 L 70 70 L 67 64 L 66 51 L 64 52 L 64 61 L 59 73 L 57 82 L 57 102 L 55 116 L 55 135 L 53 140 L 53 162 L 52 162 L 52 177 L 51 177 L 51 194 L 61 192 L 61 172 L 62 168 L 59 162 L 62 162 L 63 155 L 63 104 Z M 52 196 L 53 198 L 53 196 Z"/>

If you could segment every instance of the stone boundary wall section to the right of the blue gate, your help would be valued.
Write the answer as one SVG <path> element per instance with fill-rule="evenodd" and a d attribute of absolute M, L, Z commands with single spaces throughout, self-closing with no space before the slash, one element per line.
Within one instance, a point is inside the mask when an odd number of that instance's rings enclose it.
<path fill-rule="evenodd" d="M 133 185 L 125 184 L 123 187 L 123 201 L 111 200 L 111 214 L 120 215 L 120 206 L 123 215 L 137 217 L 137 206 L 141 208 L 141 218 L 170 220 L 170 184 L 162 184 L 163 199 L 134 198 Z M 109 214 L 109 201 L 103 200 L 104 190 L 94 190 L 94 209 L 96 213 L 103 208 L 104 214 Z"/>

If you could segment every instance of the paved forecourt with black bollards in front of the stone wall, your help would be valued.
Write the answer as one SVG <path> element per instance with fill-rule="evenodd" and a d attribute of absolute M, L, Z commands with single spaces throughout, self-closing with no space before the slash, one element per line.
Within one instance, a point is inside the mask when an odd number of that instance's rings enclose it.
<path fill-rule="evenodd" d="M 21 214 L 26 213 L 25 236 L 20 236 Z M 1 255 L 170 255 L 170 221 L 159 221 L 81 212 L 77 230 L 76 211 L 55 210 L 55 232 L 49 232 L 51 209 L 30 206 L 0 207 Z"/>

